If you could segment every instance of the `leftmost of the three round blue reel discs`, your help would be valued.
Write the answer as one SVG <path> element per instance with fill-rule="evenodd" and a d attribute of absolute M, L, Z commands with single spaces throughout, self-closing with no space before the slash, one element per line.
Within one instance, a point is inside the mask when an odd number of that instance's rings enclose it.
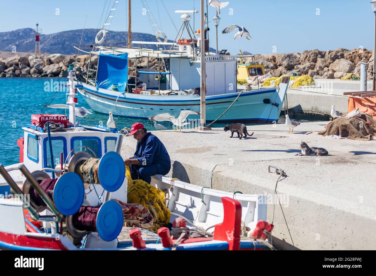
<path fill-rule="evenodd" d="M 53 189 L 53 202 L 64 216 L 76 214 L 85 197 L 85 189 L 80 176 L 75 172 L 66 172 L 56 182 Z"/>

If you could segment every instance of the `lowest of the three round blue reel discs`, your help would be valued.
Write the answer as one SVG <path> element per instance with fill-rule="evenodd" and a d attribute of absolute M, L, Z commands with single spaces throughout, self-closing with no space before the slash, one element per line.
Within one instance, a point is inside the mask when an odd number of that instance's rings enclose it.
<path fill-rule="evenodd" d="M 102 240 L 115 240 L 123 228 L 123 223 L 123 210 L 117 202 L 107 201 L 99 208 L 96 226 Z"/>

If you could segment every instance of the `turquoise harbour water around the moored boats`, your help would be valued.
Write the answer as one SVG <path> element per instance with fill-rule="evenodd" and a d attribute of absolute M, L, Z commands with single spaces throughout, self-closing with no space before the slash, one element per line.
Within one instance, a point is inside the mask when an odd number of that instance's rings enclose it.
<path fill-rule="evenodd" d="M 23 137 L 21 129 L 31 123 L 32 114 L 65 114 L 65 109 L 52 109 L 42 104 L 65 104 L 64 84 L 67 78 L 0 78 L 0 163 L 8 166 L 19 162 L 17 139 Z M 76 118 L 84 125 L 106 125 L 108 115 L 97 113 L 90 108 L 83 97 L 78 94 L 78 105 L 88 109 L 92 114 L 88 118 Z M 67 110 L 68 112 L 68 110 Z M 67 114 L 68 115 L 68 114 Z M 294 117 L 294 119 L 298 119 Z M 141 122 L 147 130 L 153 131 L 154 123 L 146 119 L 114 117 L 118 129 L 130 128 L 135 122 Z M 317 116 L 302 118 L 300 121 L 325 121 Z M 280 117 L 279 122 L 284 122 Z M 161 122 L 168 129 L 173 129 L 171 122 Z M 223 127 L 223 123 L 214 123 L 211 127 Z M 251 125 L 251 124 L 247 124 Z"/>

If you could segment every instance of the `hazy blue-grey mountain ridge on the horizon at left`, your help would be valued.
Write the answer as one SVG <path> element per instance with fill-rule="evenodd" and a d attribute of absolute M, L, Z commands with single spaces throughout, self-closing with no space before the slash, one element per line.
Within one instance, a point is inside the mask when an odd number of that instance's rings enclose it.
<path fill-rule="evenodd" d="M 95 37 L 99 29 L 85 29 L 82 36 L 81 46 L 89 46 L 94 44 Z M 74 54 L 76 49 L 73 46 L 79 46 L 82 35 L 82 29 L 70 30 L 59 33 L 52 33 L 49 35 L 40 35 L 41 52 L 42 53 L 61 53 Z M 114 32 L 108 31 L 105 39 L 105 44 L 119 41 L 127 41 L 128 32 Z M 156 41 L 155 35 L 149 33 L 135 33 L 132 32 L 133 41 Z M 173 42 L 168 40 L 168 42 Z M 115 45 L 126 45 L 126 42 Z M 13 46 L 16 46 L 17 52 L 34 52 L 35 49 L 35 34 L 33 29 L 24 28 L 11 32 L 0 33 L 0 51 L 12 51 Z M 140 47 L 140 45 L 134 45 Z M 154 45 L 147 45 L 148 48 L 156 48 Z M 211 51 L 215 51 L 210 48 Z"/>

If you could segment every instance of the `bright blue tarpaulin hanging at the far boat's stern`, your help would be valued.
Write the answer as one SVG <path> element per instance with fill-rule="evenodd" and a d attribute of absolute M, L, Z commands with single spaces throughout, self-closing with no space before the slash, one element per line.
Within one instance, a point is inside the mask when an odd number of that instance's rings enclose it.
<path fill-rule="evenodd" d="M 115 84 L 124 92 L 128 80 L 128 54 L 99 54 L 97 87 L 109 89 Z"/>

